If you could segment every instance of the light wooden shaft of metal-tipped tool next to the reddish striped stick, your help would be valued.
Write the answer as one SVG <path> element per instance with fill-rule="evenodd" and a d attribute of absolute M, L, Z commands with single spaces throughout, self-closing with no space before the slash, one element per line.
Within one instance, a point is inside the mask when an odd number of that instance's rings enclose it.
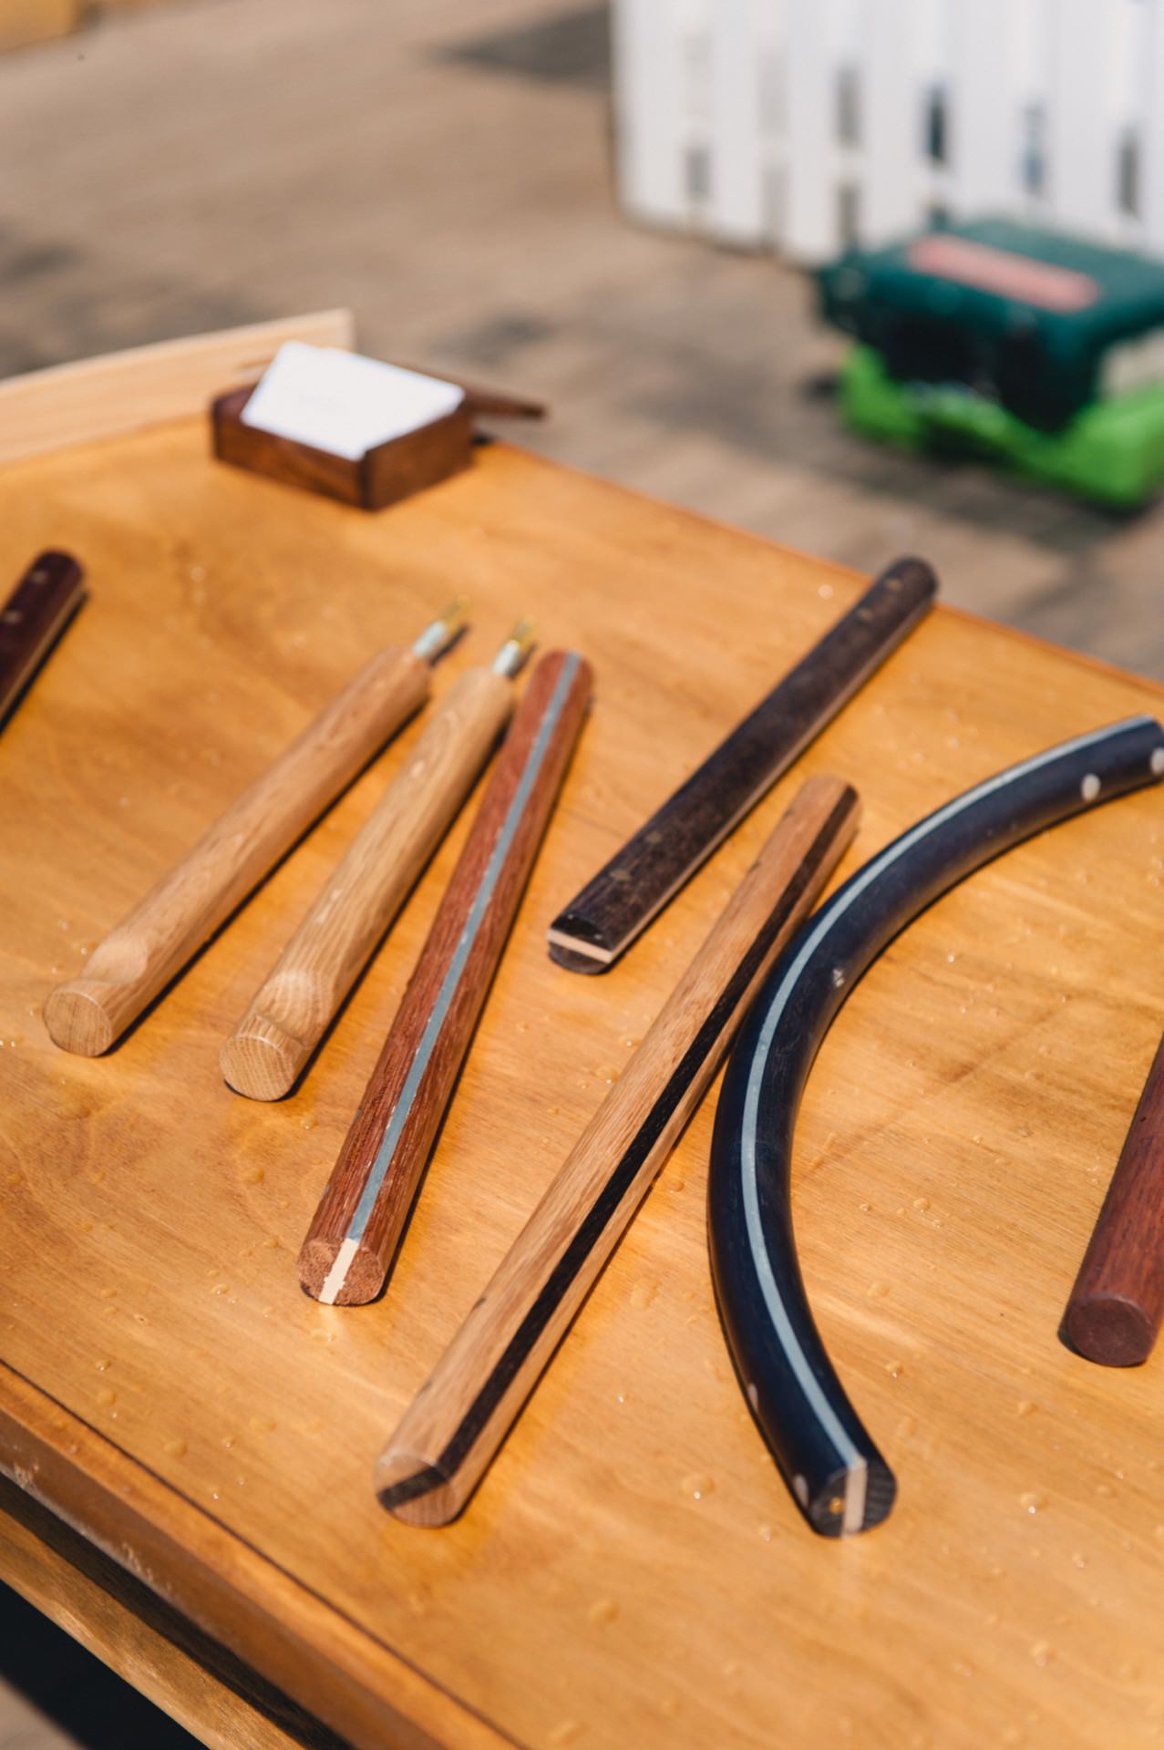
<path fill-rule="evenodd" d="M 291 1090 L 501 735 L 513 682 L 469 668 L 352 842 L 222 1046 L 250 1099 Z"/>

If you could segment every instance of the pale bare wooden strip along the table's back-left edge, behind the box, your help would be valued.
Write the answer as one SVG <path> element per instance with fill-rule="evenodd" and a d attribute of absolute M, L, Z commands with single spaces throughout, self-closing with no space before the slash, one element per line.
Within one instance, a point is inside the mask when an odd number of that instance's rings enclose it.
<path fill-rule="evenodd" d="M 214 396 L 254 383 L 284 341 L 352 346 L 350 310 L 280 317 L 53 364 L 0 383 L 0 462 L 205 415 Z"/>

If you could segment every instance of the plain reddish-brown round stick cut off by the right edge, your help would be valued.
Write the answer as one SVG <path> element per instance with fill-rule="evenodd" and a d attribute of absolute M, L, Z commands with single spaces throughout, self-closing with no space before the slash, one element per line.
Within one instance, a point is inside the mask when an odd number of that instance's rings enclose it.
<path fill-rule="evenodd" d="M 1164 1316 L 1164 1040 L 1068 1300 L 1068 1337 L 1089 1362 L 1146 1362 Z"/>

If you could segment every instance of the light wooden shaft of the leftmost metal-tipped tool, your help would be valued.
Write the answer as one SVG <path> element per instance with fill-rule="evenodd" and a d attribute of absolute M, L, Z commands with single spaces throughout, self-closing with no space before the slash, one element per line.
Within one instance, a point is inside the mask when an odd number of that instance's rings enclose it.
<path fill-rule="evenodd" d="M 82 978 L 44 1006 L 49 1036 L 96 1057 L 186 966 L 396 728 L 424 704 L 429 665 L 382 651 L 105 936 Z"/>

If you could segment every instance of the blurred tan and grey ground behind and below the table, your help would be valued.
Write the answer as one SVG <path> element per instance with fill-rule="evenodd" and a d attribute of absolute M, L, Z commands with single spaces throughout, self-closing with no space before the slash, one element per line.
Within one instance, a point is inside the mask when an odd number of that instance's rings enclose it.
<path fill-rule="evenodd" d="M 175 0 L 9 54 L 0 374 L 347 303 L 368 352 L 550 401 L 516 434 L 548 455 L 861 569 L 914 548 L 949 600 L 1164 677 L 1164 509 L 845 436 L 802 276 L 623 224 L 609 130 L 578 0 Z M 189 1743 L 4 1594 L 0 1647 L 0 1750 Z"/>

